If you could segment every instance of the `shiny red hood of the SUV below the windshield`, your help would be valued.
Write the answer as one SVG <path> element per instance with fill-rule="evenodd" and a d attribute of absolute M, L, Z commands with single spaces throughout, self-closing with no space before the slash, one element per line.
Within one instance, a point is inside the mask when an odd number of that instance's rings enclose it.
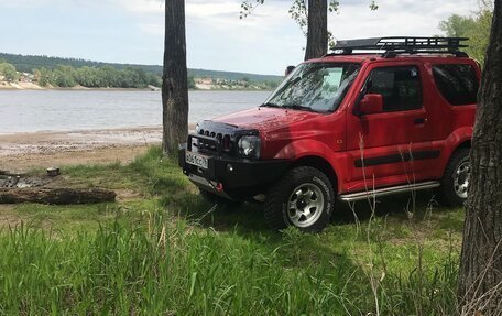
<path fill-rule="evenodd" d="M 254 129 L 260 132 L 268 132 L 319 116 L 321 113 L 260 107 L 218 117 L 211 121 L 231 124 L 240 129 Z"/>

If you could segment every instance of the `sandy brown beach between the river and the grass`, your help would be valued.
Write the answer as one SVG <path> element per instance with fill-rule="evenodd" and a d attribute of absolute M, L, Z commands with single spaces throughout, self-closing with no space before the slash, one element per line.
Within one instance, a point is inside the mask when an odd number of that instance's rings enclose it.
<path fill-rule="evenodd" d="M 162 127 L 0 134 L 0 170 L 127 163 L 162 141 Z"/>

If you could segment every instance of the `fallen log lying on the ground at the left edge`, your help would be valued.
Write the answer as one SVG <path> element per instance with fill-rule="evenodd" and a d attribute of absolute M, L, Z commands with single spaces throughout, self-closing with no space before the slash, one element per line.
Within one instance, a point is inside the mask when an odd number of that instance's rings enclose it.
<path fill-rule="evenodd" d="M 0 188 L 0 204 L 90 204 L 113 201 L 116 196 L 113 190 L 103 188 Z"/>

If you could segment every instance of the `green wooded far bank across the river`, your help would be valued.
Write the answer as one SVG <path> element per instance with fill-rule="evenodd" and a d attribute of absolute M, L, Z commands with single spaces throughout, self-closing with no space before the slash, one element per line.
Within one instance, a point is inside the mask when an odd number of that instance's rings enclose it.
<path fill-rule="evenodd" d="M 99 63 L 76 58 L 25 56 L 0 53 L 0 76 L 6 81 L 18 81 L 34 75 L 33 81 L 44 87 L 69 88 L 145 88 L 161 86 L 161 66 Z M 33 77 L 30 76 L 30 80 Z M 282 76 L 255 75 L 234 72 L 188 69 L 188 89 L 196 89 L 196 78 L 211 78 L 216 88 L 274 89 Z M 225 86 L 225 87 L 221 87 Z"/>

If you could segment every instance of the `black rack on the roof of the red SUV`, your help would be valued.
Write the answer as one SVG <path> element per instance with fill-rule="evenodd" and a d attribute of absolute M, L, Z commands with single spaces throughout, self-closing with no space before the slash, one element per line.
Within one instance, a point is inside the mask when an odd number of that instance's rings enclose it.
<path fill-rule="evenodd" d="M 452 54 L 468 57 L 459 48 L 468 47 L 461 42 L 467 37 L 413 37 L 389 36 L 360 40 L 337 41 L 328 55 L 383 54 L 383 57 L 395 57 L 397 54 Z M 354 51 L 358 51 L 357 53 Z"/>

